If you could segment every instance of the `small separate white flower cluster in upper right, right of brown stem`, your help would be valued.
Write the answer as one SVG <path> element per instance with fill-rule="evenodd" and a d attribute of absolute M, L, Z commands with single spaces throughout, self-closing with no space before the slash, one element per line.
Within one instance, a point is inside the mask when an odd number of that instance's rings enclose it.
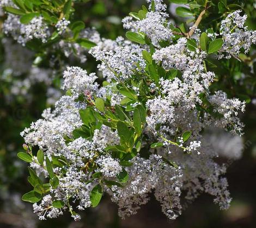
<path fill-rule="evenodd" d="M 242 48 L 245 53 L 248 53 L 252 44 L 256 43 L 256 31 L 248 30 L 244 26 L 247 15 L 240 16 L 241 12 L 241 10 L 236 10 L 221 22 L 220 34 L 224 43 L 220 58 L 224 57 L 224 53 L 226 53 L 225 58 L 227 59 L 231 56 L 237 58 Z"/>

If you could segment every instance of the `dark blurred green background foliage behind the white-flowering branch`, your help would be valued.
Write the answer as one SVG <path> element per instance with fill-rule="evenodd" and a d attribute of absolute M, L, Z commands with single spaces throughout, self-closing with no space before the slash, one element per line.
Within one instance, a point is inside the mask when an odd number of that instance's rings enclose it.
<path fill-rule="evenodd" d="M 175 3 L 166 1 L 170 6 L 170 18 L 176 24 L 190 21 L 175 14 Z M 212 1 L 216 2 L 216 1 Z M 236 0 L 217 1 L 227 2 L 230 7 L 242 6 L 248 15 L 247 26 L 256 29 L 256 1 Z M 115 39 L 125 35 L 121 20 L 129 12 L 137 12 L 143 0 L 81 0 L 74 5 L 74 21 L 81 20 L 86 27 L 94 27 L 101 37 Z M 215 17 L 225 14 L 221 4 L 212 8 L 209 20 L 214 26 Z M 240 8 L 240 7 L 239 7 Z M 0 28 L 5 20 L 1 15 Z M 189 23 L 188 23 L 189 24 Z M 189 25 L 188 25 L 189 27 Z M 203 29 L 203 28 L 202 28 Z M 0 30 L 0 227 L 255 227 L 256 226 L 256 50 L 247 56 L 240 56 L 241 62 L 227 60 L 234 71 L 227 72 L 225 68 L 217 68 L 218 81 L 215 87 L 222 89 L 230 96 L 240 94 L 241 98 L 251 100 L 247 104 L 246 113 L 242 116 L 246 125 L 243 136 L 243 156 L 238 161 L 228 161 L 227 178 L 229 189 L 233 197 L 231 207 L 227 211 L 220 211 L 212 203 L 208 195 L 202 195 L 193 204 L 183 205 L 186 210 L 174 220 L 168 221 L 161 213 L 160 205 L 155 200 L 143 206 L 138 214 L 121 220 L 117 216 L 117 208 L 106 197 L 101 206 L 86 210 L 82 221 L 74 222 L 68 217 L 60 217 L 47 221 L 39 221 L 32 213 L 32 206 L 21 201 L 21 195 L 28 191 L 26 164 L 17 159 L 16 154 L 22 151 L 22 137 L 20 132 L 36 119 L 40 118 L 46 107 L 51 107 L 54 97 L 61 93 L 56 88 L 61 85 L 62 72 L 68 65 L 81 66 L 88 72 L 96 71 L 96 62 L 88 56 L 85 63 L 76 58 L 65 58 L 62 54 L 29 50 L 18 45 Z M 53 58 L 54 55 L 54 58 Z M 57 56 L 57 58 L 56 58 Z M 40 58 L 40 68 L 47 73 L 48 68 L 54 69 L 52 75 L 52 90 L 48 90 L 47 83 L 37 80 L 34 84 L 26 81 L 29 69 L 36 65 Z M 8 61 L 10 60 L 10 61 Z M 15 60 L 15 61 L 14 61 Z M 51 61 L 53 60 L 53 61 Z M 217 63 L 216 63 L 217 65 Z M 19 73 L 15 72 L 15 69 Z M 35 72 L 35 74 L 38 74 Z M 21 80 L 23 83 L 21 83 Z M 26 84 L 28 84 L 26 86 Z M 26 87 L 26 88 L 25 88 Z M 215 87 L 212 89 L 215 90 Z"/>

